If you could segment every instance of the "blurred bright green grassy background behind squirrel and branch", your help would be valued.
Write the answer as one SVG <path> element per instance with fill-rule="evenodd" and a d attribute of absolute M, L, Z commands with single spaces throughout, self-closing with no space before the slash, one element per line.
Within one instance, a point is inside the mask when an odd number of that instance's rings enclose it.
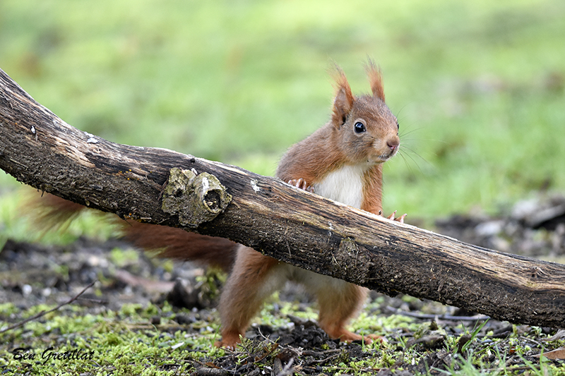
<path fill-rule="evenodd" d="M 403 142 L 386 212 L 565 192 L 563 0 L 0 1 L 0 68 L 61 119 L 259 174 L 328 120 L 333 61 L 369 91 L 367 56 Z"/>

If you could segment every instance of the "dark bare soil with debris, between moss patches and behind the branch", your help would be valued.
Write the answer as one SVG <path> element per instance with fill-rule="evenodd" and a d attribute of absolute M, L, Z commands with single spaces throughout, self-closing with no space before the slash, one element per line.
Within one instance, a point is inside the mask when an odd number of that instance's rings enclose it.
<path fill-rule="evenodd" d="M 470 214 L 441 219 L 434 230 L 486 248 L 563 262 L 565 198 L 554 196 L 519 202 L 499 217 Z M 118 252 L 117 249 L 126 251 Z M 93 281 L 101 281 L 98 289 L 102 294 L 89 289 L 71 303 L 80 305 L 85 313 L 97 314 L 101 307 L 118 311 L 124 303 L 143 305 L 151 301 L 159 305 L 168 301 L 179 309 L 174 318 L 179 327 L 189 326 L 205 317 L 218 320 L 210 284 L 198 279 L 205 273 L 203 269 L 187 262 L 172 265 L 130 250 L 131 246 L 119 239 L 99 243 L 81 238 L 62 247 L 8 241 L 0 252 L 0 303 L 13 303 L 21 314 L 0 317 L 2 324 L 4 327 L 13 325 L 22 320 L 25 310 L 38 304 L 65 303 Z M 212 290 L 215 287 L 218 285 Z M 288 286 L 280 293 L 280 299 L 299 302 L 299 307 L 310 305 L 307 297 L 294 286 Z M 521 374 L 533 372 L 532 365 L 535 367 L 540 361 L 535 356 L 542 350 L 559 349 L 564 344 L 565 334 L 557 328 L 488 320 L 472 336 L 473 329 L 485 321 L 485 317 L 476 313 L 374 292 L 371 302 L 369 315 L 405 315 L 416 323 L 426 323 L 423 326 L 426 330 L 416 333 L 406 328 L 386 328 L 392 331 L 386 336 L 388 351 L 393 354 L 392 364 L 378 368 L 359 366 L 355 372 L 439 375 L 463 367 L 463 363 L 453 363 L 454 353 L 472 350 L 482 353 L 481 365 L 475 365 L 477 368 L 499 370 L 504 355 L 504 369 Z M 276 304 L 274 307 L 277 310 Z M 180 311 L 180 308 L 188 310 Z M 224 356 L 195 363 L 194 373 L 259 375 L 266 370 L 273 375 L 348 373 L 354 371 L 343 368 L 345 360 L 374 356 L 375 350 L 366 350 L 361 344 L 340 344 L 329 339 L 313 320 L 282 312 L 276 314 L 285 316 L 292 325 L 253 325 L 246 334 L 251 339 L 248 345 Z M 160 317 L 157 315 L 151 320 L 158 323 Z M 447 346 L 450 338 L 451 341 L 457 339 L 455 349 Z M 522 350 L 517 351 L 517 348 Z M 417 361 L 414 356 L 408 356 L 410 352 L 419 355 Z M 549 362 L 563 364 L 559 357 Z"/>

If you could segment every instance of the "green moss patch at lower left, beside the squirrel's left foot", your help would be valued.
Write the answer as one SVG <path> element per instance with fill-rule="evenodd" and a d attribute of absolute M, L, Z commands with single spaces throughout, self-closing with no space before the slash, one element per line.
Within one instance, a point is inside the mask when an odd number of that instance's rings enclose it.
<path fill-rule="evenodd" d="M 0 315 L 10 309 L 9 305 L 0 306 Z M 196 335 L 194 330 L 188 334 L 179 330 L 158 332 L 148 322 L 156 313 L 162 312 L 155 305 L 142 308 L 128 304 L 118 313 L 109 310 L 100 315 L 84 314 L 81 308 L 68 306 L 63 312 L 48 314 L 47 322 L 32 321 L 11 334 L 3 334 L 0 368 L 14 374 L 31 372 L 32 375 L 53 375 L 54 372 L 59 375 L 83 372 L 94 372 L 93 375 L 107 375 L 108 372 L 112 375 L 178 375 L 194 369 L 193 359 L 223 355 L 223 350 L 211 346 L 211 336 Z M 40 336 L 49 338 L 49 344 L 37 340 Z M 176 344 L 181 346 L 174 346 Z M 18 346 L 23 346 L 20 355 L 25 354 L 28 358 L 13 355 Z M 67 351 L 78 353 L 78 358 L 57 358 L 57 354 Z M 92 356 L 87 357 L 87 354 Z M 172 356 L 178 356 L 182 362 L 182 367 L 174 368 L 179 368 L 179 373 L 168 371 L 167 365 L 174 364 Z"/>

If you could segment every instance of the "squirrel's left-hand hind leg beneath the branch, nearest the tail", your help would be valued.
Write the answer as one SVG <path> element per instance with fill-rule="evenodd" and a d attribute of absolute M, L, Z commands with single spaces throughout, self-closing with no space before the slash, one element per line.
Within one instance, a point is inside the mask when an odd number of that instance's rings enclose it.
<path fill-rule="evenodd" d="M 234 267 L 220 296 L 222 340 L 218 347 L 235 348 L 263 301 L 287 281 L 278 260 L 239 245 Z"/>

